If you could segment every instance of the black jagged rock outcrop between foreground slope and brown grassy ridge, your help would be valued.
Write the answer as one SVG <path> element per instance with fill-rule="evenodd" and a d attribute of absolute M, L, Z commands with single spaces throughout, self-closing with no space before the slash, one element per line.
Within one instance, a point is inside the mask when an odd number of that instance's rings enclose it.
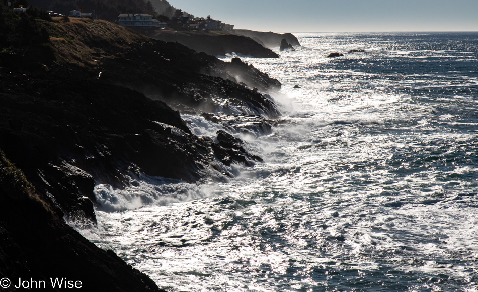
<path fill-rule="evenodd" d="M 128 171 L 190 182 L 223 179 L 210 143 L 192 135 L 165 103 L 100 80 L 78 86 L 76 74 L 60 71 L 0 77 L 0 148 L 67 219 L 94 224 L 94 184 L 123 187 Z M 24 86 L 17 88 L 19 82 Z M 248 103 L 261 107 L 267 99 L 255 94 L 259 100 Z M 231 162 L 244 162 L 238 158 Z"/>

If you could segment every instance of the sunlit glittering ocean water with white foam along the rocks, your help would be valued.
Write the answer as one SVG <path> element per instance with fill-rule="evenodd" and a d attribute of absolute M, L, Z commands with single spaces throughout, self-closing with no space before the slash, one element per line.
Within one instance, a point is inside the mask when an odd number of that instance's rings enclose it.
<path fill-rule="evenodd" d="M 478 33 L 295 35 L 243 58 L 283 84 L 287 123 L 234 133 L 264 163 L 98 185 L 81 232 L 171 291 L 477 291 Z"/>

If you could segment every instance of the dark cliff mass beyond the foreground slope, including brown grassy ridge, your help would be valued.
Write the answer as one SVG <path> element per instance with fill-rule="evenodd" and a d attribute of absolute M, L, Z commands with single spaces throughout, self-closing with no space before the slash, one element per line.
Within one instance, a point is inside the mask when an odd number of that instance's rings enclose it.
<path fill-rule="evenodd" d="M 43 72 L 0 71 L 0 148 L 67 219 L 95 223 L 97 183 L 123 187 L 131 173 L 224 180 L 224 165 L 260 161 L 192 135 L 162 101 L 188 112 L 276 118 L 275 103 L 251 88 L 274 90 L 277 80 L 238 58 L 222 62 L 105 21 L 40 23 L 57 60 Z"/>

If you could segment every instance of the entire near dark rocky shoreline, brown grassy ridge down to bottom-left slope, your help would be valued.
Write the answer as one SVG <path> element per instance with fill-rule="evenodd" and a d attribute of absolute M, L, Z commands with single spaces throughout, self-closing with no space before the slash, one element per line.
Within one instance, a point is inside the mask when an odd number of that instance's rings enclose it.
<path fill-rule="evenodd" d="M 53 58 L 0 63 L 0 261 L 9 267 L 0 276 L 43 279 L 63 271 L 88 275 L 84 287 L 92 291 L 157 290 L 64 220 L 96 225 L 94 186 L 127 187 L 131 173 L 201 183 L 227 180 L 231 164 L 260 163 L 231 133 L 270 132 L 280 110 L 266 93 L 281 85 L 239 58 L 223 62 L 106 21 L 36 22 Z M 196 136 L 180 112 L 230 133 Z"/>

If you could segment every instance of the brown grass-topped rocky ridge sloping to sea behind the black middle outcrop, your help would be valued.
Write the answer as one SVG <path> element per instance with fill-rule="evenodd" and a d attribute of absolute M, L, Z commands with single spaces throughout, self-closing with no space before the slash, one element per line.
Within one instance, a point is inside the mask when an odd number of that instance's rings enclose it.
<path fill-rule="evenodd" d="M 199 112 L 214 112 L 228 99 L 230 105 L 222 111 L 241 114 L 236 106 L 251 100 L 255 110 L 247 114 L 278 114 L 271 101 L 253 88 L 274 91 L 280 89 L 280 82 L 251 65 L 223 62 L 181 44 L 152 40 L 104 21 L 71 18 L 68 23 L 43 25 L 61 60 L 90 68 L 100 80 Z"/>

